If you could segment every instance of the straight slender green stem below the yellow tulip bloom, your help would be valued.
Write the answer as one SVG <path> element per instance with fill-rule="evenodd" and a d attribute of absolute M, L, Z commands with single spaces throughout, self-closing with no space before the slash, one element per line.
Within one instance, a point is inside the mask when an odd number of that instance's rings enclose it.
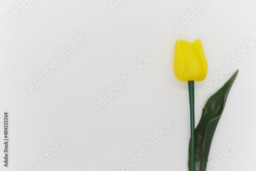
<path fill-rule="evenodd" d="M 188 94 L 190 106 L 190 168 L 195 171 L 195 93 L 194 81 L 188 81 Z"/>

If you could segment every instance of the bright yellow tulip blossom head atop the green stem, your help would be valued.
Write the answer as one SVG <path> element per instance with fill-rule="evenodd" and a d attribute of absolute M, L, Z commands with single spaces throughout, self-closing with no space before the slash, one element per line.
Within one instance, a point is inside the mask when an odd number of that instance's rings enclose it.
<path fill-rule="evenodd" d="M 175 43 L 174 73 L 180 81 L 203 81 L 207 75 L 207 60 L 201 40 L 177 40 Z"/>

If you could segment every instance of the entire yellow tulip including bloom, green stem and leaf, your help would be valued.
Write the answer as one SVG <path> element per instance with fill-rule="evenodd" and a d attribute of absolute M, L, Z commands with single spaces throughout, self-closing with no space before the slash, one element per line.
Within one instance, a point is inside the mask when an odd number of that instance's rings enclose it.
<path fill-rule="evenodd" d="M 180 81 L 188 82 L 190 106 L 190 141 L 188 147 L 188 171 L 206 171 L 212 139 L 223 113 L 228 93 L 238 70 L 207 101 L 201 119 L 195 129 L 194 81 L 203 81 L 207 75 L 207 61 L 199 39 L 193 43 L 177 40 L 175 43 L 174 73 Z"/>

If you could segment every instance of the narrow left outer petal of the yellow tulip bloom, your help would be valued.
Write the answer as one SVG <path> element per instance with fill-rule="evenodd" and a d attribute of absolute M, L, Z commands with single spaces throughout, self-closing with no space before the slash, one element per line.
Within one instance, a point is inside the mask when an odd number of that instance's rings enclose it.
<path fill-rule="evenodd" d="M 175 55 L 174 55 L 174 73 L 180 81 L 183 79 L 184 61 L 182 57 L 182 50 L 180 47 L 179 39 L 175 42 Z"/>

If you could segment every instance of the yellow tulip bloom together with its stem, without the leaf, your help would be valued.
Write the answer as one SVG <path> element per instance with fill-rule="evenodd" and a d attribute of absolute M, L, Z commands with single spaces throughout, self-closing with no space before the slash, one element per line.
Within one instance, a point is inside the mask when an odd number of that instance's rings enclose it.
<path fill-rule="evenodd" d="M 180 81 L 188 81 L 190 104 L 190 169 L 195 171 L 195 93 L 194 80 L 203 81 L 207 75 L 207 61 L 201 40 L 177 40 L 175 43 L 174 73 Z"/>

